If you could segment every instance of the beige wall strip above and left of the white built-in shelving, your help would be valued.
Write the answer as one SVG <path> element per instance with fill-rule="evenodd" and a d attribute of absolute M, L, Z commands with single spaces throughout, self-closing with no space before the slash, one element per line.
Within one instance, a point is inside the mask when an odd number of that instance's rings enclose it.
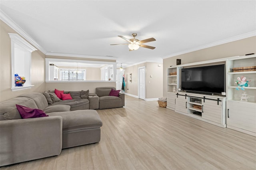
<path fill-rule="evenodd" d="M 187 64 L 198 61 L 245 55 L 248 53 L 256 53 L 256 36 L 164 59 L 163 96 L 166 96 L 167 91 L 167 68 L 169 68 L 170 65 L 176 65 L 176 59 L 181 59 L 181 64 Z"/>

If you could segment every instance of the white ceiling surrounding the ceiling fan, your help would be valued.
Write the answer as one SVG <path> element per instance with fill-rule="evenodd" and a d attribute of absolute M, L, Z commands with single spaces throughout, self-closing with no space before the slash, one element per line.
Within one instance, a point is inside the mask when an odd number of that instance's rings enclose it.
<path fill-rule="evenodd" d="M 123 66 L 256 32 L 255 0 L 0 0 L 0 9 L 46 54 L 114 57 Z M 145 45 L 156 49 L 110 45 L 132 33 L 155 38 Z"/>

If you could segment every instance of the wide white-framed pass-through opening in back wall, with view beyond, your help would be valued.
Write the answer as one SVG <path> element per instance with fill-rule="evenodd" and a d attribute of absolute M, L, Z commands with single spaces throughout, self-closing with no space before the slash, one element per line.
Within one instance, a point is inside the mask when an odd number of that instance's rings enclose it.
<path fill-rule="evenodd" d="M 116 81 L 116 76 L 113 76 L 116 75 L 116 62 L 46 58 L 45 67 L 46 82 Z M 55 72 L 53 67 L 56 69 Z M 75 73 L 76 70 L 80 70 L 81 73 Z"/>

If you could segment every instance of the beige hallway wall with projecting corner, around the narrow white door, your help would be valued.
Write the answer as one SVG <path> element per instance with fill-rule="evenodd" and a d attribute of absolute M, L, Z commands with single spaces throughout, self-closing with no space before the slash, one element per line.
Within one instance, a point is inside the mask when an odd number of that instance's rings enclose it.
<path fill-rule="evenodd" d="M 161 67 L 158 67 L 161 65 Z M 142 63 L 125 68 L 126 87 L 125 92 L 138 96 L 138 68 L 146 67 L 146 99 L 162 97 L 163 72 L 162 63 Z M 130 83 L 130 73 L 132 73 L 132 83 Z M 152 75 L 152 78 L 150 78 Z"/>

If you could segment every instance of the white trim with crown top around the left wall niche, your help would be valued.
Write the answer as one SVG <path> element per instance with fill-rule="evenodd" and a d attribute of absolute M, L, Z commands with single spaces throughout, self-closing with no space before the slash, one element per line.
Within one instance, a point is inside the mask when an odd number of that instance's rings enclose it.
<path fill-rule="evenodd" d="M 12 91 L 18 91 L 18 90 L 24 90 L 24 89 L 31 89 L 32 86 L 31 85 L 31 53 L 35 50 L 37 50 L 34 46 L 32 46 L 30 43 L 28 43 L 26 40 L 24 40 L 22 37 L 20 37 L 18 34 L 14 34 L 14 33 L 8 33 L 11 39 L 11 65 L 12 65 Z M 26 77 L 26 79 L 29 79 L 29 84 L 25 83 L 24 86 L 20 86 L 20 87 L 16 87 L 15 83 L 14 83 L 14 63 L 15 63 L 15 46 L 18 46 L 20 49 L 22 50 L 26 50 L 29 52 L 29 56 L 28 57 L 28 61 L 29 62 L 29 73 L 30 75 L 28 77 Z"/>

